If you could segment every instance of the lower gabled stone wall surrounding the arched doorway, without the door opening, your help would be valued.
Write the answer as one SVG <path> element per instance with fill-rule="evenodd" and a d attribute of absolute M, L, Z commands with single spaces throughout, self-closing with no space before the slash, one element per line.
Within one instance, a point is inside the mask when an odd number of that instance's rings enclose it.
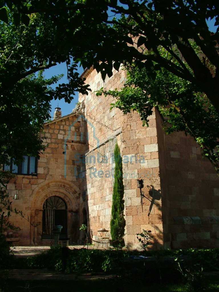
<path fill-rule="evenodd" d="M 42 214 L 43 204 L 51 196 L 65 201 L 67 235 L 72 242 L 79 239 L 81 212 L 86 206 L 83 201 L 81 203 L 80 178 L 75 174 L 77 157 L 86 149 L 85 124 L 77 113 L 46 123 L 44 131 L 48 147 L 40 155 L 37 175 L 17 175 L 8 184 L 10 198 L 15 192 L 19 195 L 19 200 L 13 200 L 13 206 L 22 210 L 25 218 L 30 220 L 14 214 L 10 218 L 21 228 L 20 245 L 50 243 L 42 241 Z"/>

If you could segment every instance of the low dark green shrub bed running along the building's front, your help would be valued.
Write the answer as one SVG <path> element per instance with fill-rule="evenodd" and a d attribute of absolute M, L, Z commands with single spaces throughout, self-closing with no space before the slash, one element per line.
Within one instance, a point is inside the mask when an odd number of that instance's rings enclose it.
<path fill-rule="evenodd" d="M 154 257 L 153 260 L 125 259 L 130 256 Z M 165 259 L 172 257 L 172 259 Z M 183 270 L 180 277 L 178 262 Z M 20 260 L 25 265 L 21 265 Z M 217 270 L 219 262 L 219 249 L 203 250 L 158 250 L 146 252 L 125 252 L 120 249 L 98 250 L 98 249 L 69 249 L 67 258 L 67 273 L 100 273 L 106 272 L 132 281 L 147 281 L 147 283 L 178 283 L 189 281 L 190 289 L 199 291 L 203 287 L 204 277 L 202 270 Z M 49 268 L 62 271 L 61 247 L 52 247 L 49 251 L 40 255 L 17 259 L 13 263 L 19 264 L 16 268 Z M 200 265 L 201 264 L 201 265 Z"/>

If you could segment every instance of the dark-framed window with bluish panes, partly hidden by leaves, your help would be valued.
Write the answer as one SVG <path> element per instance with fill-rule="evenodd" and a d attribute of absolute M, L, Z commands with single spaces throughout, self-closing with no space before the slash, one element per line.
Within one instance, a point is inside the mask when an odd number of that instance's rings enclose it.
<path fill-rule="evenodd" d="M 11 171 L 12 173 L 22 174 L 22 175 L 37 175 L 37 158 L 33 156 L 23 156 L 23 162 L 19 165 L 15 165 L 13 158 L 8 160 L 8 164 L 3 165 L 4 171 Z"/>

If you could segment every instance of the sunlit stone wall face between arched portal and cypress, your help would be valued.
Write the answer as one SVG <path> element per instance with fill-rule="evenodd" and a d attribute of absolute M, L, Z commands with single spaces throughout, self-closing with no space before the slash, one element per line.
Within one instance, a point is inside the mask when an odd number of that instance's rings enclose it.
<path fill-rule="evenodd" d="M 86 192 L 91 236 L 98 239 L 98 229 L 110 230 L 112 188 L 114 172 L 114 146 L 116 141 L 121 147 L 123 116 L 118 109 L 110 111 L 109 97 L 96 96 L 95 91 L 104 86 L 94 70 L 88 70 L 84 77 L 92 89 L 88 95 L 79 95 L 79 102 L 85 104 L 88 145 L 81 160 L 81 190 Z M 124 84 L 125 75 L 114 72 L 107 79 L 108 89 L 117 83 Z M 110 232 L 109 232 L 110 236 Z"/>

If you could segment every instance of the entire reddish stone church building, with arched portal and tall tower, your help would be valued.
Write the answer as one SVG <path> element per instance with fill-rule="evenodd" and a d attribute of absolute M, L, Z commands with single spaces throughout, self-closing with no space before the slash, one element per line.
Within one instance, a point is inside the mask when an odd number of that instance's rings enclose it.
<path fill-rule="evenodd" d="M 114 99 L 97 97 L 95 91 L 123 86 L 124 71 L 114 71 L 105 83 L 93 69 L 83 77 L 92 91 L 79 95 L 71 114 L 62 117 L 57 109 L 53 121 L 44 126 L 48 147 L 39 161 L 25 157 L 8 184 L 13 206 L 30 220 L 11 217 L 21 228 L 19 245 L 49 245 L 54 225 L 62 225 L 61 236 L 72 243 L 83 239 L 83 223 L 93 240 L 100 228 L 109 230 L 110 237 L 118 142 L 127 248 L 140 247 L 136 234 L 143 229 L 152 231 L 154 249 L 219 247 L 219 178 L 193 138 L 166 135 L 157 111 L 147 128 L 136 112 L 110 110 Z M 137 178 L 144 180 L 142 204 Z M 18 200 L 13 200 L 15 194 Z"/>

